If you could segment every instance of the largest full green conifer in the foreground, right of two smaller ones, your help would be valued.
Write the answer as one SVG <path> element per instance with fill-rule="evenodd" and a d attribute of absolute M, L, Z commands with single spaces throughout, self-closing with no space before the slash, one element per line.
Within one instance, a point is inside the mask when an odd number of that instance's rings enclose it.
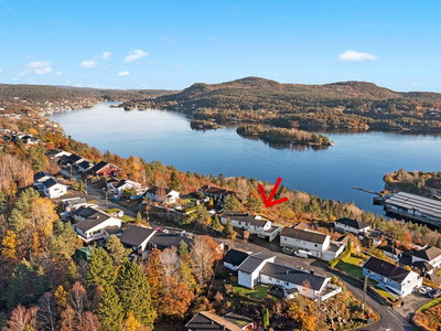
<path fill-rule="evenodd" d="M 121 300 L 122 311 L 131 311 L 139 322 L 152 328 L 157 312 L 150 297 L 150 286 L 135 261 L 126 260 L 122 264 L 115 288 Z"/>

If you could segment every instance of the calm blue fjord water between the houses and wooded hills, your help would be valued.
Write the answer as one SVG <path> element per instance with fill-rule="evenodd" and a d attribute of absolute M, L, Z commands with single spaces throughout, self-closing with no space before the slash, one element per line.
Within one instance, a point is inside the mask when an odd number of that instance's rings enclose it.
<path fill-rule="evenodd" d="M 233 127 L 194 131 L 184 115 L 163 111 L 125 111 L 99 104 L 94 109 L 52 116 L 74 139 L 146 161 L 159 160 L 182 171 L 246 175 L 275 183 L 278 177 L 291 190 L 313 192 L 326 199 L 373 206 L 373 195 L 352 189 L 383 189 L 383 175 L 406 170 L 440 170 L 441 137 L 386 132 L 326 134 L 335 146 L 327 150 L 271 148 L 244 139 Z"/>

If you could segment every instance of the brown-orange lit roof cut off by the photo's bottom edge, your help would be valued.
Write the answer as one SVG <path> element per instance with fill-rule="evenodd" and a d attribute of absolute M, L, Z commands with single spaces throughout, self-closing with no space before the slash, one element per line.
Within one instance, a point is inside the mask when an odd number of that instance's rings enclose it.
<path fill-rule="evenodd" d="M 185 328 L 192 331 L 243 331 L 241 328 L 211 311 L 200 311 L 185 324 Z"/>

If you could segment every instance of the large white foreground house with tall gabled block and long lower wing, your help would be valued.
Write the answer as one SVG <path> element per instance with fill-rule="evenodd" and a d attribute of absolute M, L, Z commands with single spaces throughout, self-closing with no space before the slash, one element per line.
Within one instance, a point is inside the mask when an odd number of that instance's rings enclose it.
<path fill-rule="evenodd" d="M 238 284 L 252 288 L 258 284 L 276 285 L 283 289 L 287 298 L 301 293 L 310 299 L 326 300 L 342 289 L 330 284 L 331 277 L 315 275 L 300 268 L 275 263 L 275 256 L 262 253 L 248 256 L 237 268 Z"/>

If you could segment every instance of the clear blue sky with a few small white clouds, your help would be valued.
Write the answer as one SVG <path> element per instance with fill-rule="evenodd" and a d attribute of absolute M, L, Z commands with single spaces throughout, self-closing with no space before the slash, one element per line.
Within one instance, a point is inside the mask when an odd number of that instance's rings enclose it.
<path fill-rule="evenodd" d="M 245 76 L 441 93 L 441 1 L 0 0 L 0 83 L 181 89 Z"/>

